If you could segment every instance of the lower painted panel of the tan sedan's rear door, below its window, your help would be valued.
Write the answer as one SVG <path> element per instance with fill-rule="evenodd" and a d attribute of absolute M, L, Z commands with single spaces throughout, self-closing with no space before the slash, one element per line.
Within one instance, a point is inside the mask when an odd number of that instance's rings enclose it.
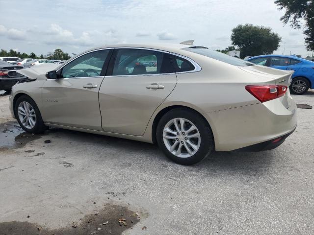
<path fill-rule="evenodd" d="M 146 88 L 153 83 L 164 88 Z M 176 83 L 176 74 L 105 77 L 99 92 L 104 131 L 143 135 L 154 111 L 172 92 Z"/>

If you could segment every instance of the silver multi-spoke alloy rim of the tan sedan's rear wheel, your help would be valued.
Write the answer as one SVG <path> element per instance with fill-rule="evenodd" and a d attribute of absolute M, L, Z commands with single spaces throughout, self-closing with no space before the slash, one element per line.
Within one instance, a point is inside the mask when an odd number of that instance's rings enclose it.
<path fill-rule="evenodd" d="M 185 118 L 173 118 L 163 128 L 163 142 L 173 155 L 188 158 L 194 155 L 201 144 L 201 135 L 196 125 Z"/>

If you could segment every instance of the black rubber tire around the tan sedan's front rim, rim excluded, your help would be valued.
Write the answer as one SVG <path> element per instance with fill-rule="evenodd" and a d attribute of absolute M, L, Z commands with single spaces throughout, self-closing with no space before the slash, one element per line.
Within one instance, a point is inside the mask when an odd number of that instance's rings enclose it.
<path fill-rule="evenodd" d="M 28 129 L 26 128 L 22 122 L 20 121 L 20 118 L 19 118 L 19 115 L 18 115 L 18 107 L 19 107 L 19 104 L 23 101 L 26 101 L 28 102 L 32 107 L 33 109 L 35 110 L 35 115 L 36 115 L 36 123 L 35 123 L 35 126 L 31 129 Z M 41 114 L 40 114 L 40 111 L 36 105 L 36 103 L 34 102 L 34 100 L 32 100 L 29 96 L 27 95 L 22 95 L 20 96 L 16 102 L 15 102 L 15 105 L 14 105 L 14 115 L 16 117 L 16 119 L 18 120 L 20 126 L 23 128 L 23 130 L 25 130 L 26 132 L 28 133 L 34 133 L 34 134 L 38 134 L 38 133 L 43 133 L 45 131 L 45 124 L 43 122 L 43 119 L 41 117 Z"/>

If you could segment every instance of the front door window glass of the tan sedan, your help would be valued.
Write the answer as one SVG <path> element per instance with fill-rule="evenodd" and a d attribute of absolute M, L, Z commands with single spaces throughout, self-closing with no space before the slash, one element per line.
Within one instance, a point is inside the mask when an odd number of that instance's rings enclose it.
<path fill-rule="evenodd" d="M 108 53 L 108 49 L 97 50 L 78 57 L 63 67 L 61 78 L 100 76 Z"/>

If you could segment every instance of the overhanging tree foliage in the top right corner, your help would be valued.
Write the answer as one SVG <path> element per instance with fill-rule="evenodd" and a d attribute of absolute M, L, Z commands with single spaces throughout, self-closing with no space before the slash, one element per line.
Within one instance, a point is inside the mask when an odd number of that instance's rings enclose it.
<path fill-rule="evenodd" d="M 305 21 L 305 44 L 308 50 L 314 50 L 314 0 L 275 0 L 285 15 L 280 18 L 284 24 L 290 22 L 293 28 L 301 28 L 300 19 Z"/>

